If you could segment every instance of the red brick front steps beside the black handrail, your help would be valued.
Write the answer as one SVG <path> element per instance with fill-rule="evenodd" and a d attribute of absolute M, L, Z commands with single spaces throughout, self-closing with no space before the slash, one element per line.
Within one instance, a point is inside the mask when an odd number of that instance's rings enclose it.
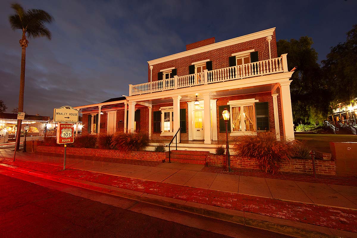
<path fill-rule="evenodd" d="M 209 151 L 172 150 L 170 152 L 170 161 L 178 163 L 206 164 L 206 158 L 209 153 Z"/>

